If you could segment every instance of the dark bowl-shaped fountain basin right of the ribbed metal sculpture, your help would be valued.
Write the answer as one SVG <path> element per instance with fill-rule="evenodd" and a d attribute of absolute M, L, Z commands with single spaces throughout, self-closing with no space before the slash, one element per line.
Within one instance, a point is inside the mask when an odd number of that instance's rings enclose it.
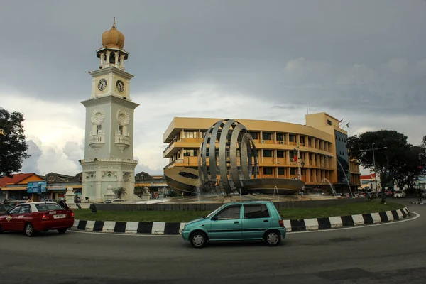
<path fill-rule="evenodd" d="M 293 195 L 305 185 L 305 182 L 290 178 L 254 178 L 252 180 L 242 180 L 242 184 L 244 190 L 248 192 L 273 195 L 276 187 L 279 194 Z"/>

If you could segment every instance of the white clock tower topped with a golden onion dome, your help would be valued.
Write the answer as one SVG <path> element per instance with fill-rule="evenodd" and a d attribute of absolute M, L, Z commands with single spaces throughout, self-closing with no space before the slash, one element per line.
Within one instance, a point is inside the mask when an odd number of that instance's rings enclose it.
<path fill-rule="evenodd" d="M 92 93 L 86 107 L 86 133 L 82 165 L 82 196 L 102 202 L 109 190 L 124 187 L 121 198 L 133 200 L 135 167 L 133 159 L 133 114 L 138 104 L 131 101 L 130 80 L 124 69 L 129 53 L 124 35 L 114 24 L 102 34 L 102 48 L 96 51 L 99 70 L 92 75 Z M 107 192 L 108 191 L 108 192 Z"/>

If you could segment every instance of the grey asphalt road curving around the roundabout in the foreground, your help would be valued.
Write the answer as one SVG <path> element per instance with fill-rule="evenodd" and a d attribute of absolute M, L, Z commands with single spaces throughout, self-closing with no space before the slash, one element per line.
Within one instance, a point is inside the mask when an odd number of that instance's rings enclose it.
<path fill-rule="evenodd" d="M 408 208 L 420 217 L 288 234 L 277 248 L 193 249 L 171 236 L 3 234 L 0 283 L 426 283 L 426 206 Z"/>

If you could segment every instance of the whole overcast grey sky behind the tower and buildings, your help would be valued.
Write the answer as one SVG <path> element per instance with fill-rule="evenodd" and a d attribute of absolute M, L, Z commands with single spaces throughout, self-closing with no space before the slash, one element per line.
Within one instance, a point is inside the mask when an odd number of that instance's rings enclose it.
<path fill-rule="evenodd" d="M 161 174 L 174 116 L 350 121 L 426 134 L 426 1 L 2 1 L 0 107 L 21 111 L 22 171 L 75 175 L 113 17 L 126 36 L 136 172 Z"/>

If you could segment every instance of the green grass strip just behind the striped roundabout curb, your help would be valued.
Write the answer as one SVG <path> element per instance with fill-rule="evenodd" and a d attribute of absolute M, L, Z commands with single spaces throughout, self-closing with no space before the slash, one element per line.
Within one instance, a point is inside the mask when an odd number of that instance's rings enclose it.
<path fill-rule="evenodd" d="M 283 219 L 307 219 L 319 217 L 345 216 L 354 214 L 384 212 L 402 209 L 405 206 L 398 203 L 387 202 L 382 205 L 380 201 L 358 202 L 318 208 L 293 208 L 280 209 Z M 136 221 L 136 222 L 188 222 L 203 216 L 208 211 L 99 211 L 92 214 L 89 209 L 75 209 L 74 217 L 78 220 L 94 221 Z"/>

